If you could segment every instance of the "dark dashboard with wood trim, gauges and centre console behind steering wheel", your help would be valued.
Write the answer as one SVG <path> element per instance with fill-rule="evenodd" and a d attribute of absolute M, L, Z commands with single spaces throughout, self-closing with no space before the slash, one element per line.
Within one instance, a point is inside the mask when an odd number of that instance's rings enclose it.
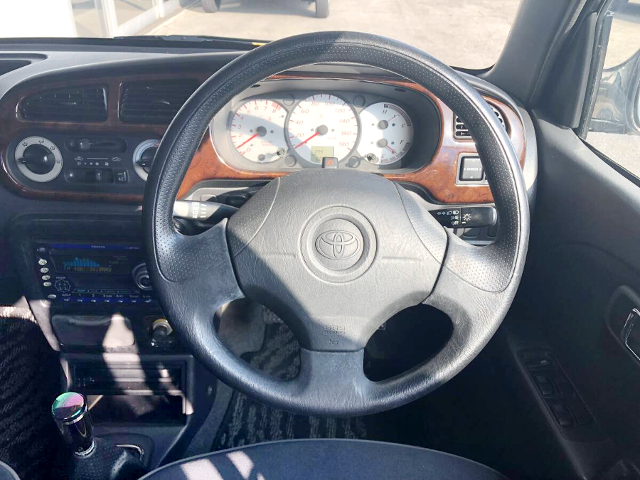
<path fill-rule="evenodd" d="M 138 378 L 162 378 L 145 395 L 178 387 L 168 397 L 178 433 L 162 429 L 153 448 L 161 456 L 161 445 L 184 443 L 177 436 L 197 429 L 197 412 L 208 411 L 198 402 L 213 401 L 213 383 L 173 334 L 146 270 L 147 176 L 184 102 L 243 52 L 51 43 L 0 51 L 0 295 L 7 304 L 26 297 L 61 352 L 68 388 L 122 398 Z M 536 142 L 526 110 L 490 83 L 465 78 L 494 109 L 533 192 Z M 185 155 L 176 197 L 186 201 L 176 204 L 239 207 L 272 179 L 324 163 L 383 175 L 440 203 L 434 216 L 446 216 L 465 241 L 496 238 L 491 188 L 469 129 L 404 78 L 313 65 L 264 79 L 211 113 L 199 146 Z M 492 211 L 482 227 L 463 223 Z M 183 234 L 207 227 L 188 218 L 174 210 Z"/>

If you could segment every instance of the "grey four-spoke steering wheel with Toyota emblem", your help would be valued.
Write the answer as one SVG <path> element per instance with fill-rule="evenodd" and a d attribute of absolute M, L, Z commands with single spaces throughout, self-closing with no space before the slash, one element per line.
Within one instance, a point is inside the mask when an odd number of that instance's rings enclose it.
<path fill-rule="evenodd" d="M 209 121 L 235 95 L 270 75 L 313 63 L 377 67 L 421 85 L 469 127 L 495 198 L 493 244 L 469 245 L 445 230 L 418 196 L 385 178 L 314 169 L 273 180 L 228 221 L 195 236 L 178 233 L 173 203 Z M 293 412 L 359 415 L 434 390 L 486 345 L 520 283 L 529 208 L 520 166 L 480 94 L 422 51 L 374 35 L 305 34 L 242 55 L 186 102 L 162 139 L 144 200 L 148 268 L 181 340 L 230 386 Z M 270 377 L 216 335 L 216 311 L 249 298 L 270 308 L 301 345 L 298 376 Z M 369 337 L 421 302 L 453 323 L 431 359 L 388 380 L 363 371 Z"/>

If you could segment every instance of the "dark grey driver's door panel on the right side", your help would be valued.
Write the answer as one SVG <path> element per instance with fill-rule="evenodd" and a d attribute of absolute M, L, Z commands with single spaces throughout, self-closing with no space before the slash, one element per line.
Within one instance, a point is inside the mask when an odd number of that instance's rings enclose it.
<path fill-rule="evenodd" d="M 621 468 L 631 472 L 630 464 L 614 465 L 637 459 L 640 445 L 640 368 L 621 341 L 640 291 L 640 187 L 572 130 L 541 117 L 535 122 L 538 204 L 520 305 L 615 446 L 614 458 L 602 464 L 598 456 L 604 460 L 607 449 L 582 455 L 583 464 L 597 466 L 585 468 L 582 473 L 589 474 L 583 478 Z M 567 455 L 577 455 L 581 470 L 580 451 L 590 440 L 575 445 L 565 440 Z"/>

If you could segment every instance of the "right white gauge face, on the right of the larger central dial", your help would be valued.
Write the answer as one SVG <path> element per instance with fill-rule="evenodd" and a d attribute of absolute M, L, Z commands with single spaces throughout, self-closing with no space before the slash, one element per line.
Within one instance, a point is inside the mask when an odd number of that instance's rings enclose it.
<path fill-rule="evenodd" d="M 360 113 L 362 137 L 358 152 L 376 165 L 390 165 L 406 155 L 413 142 L 407 113 L 392 103 L 374 103 Z"/>

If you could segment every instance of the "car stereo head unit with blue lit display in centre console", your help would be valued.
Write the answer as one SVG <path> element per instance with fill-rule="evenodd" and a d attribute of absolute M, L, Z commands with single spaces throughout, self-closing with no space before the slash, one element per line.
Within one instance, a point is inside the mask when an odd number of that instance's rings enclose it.
<path fill-rule="evenodd" d="M 35 271 L 43 298 L 55 303 L 154 303 L 141 245 L 36 244 Z"/>

